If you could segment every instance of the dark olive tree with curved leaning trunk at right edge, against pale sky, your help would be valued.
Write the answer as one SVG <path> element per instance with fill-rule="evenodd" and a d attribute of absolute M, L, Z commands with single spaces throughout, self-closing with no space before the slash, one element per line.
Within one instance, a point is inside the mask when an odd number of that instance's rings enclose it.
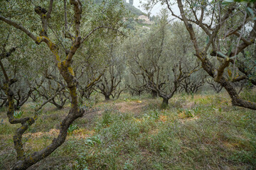
<path fill-rule="evenodd" d="M 152 4 L 156 1 L 150 1 Z M 255 57 L 242 52 L 255 46 L 256 21 L 254 1 L 181 1 L 161 0 L 171 15 L 186 26 L 201 66 L 228 92 L 233 106 L 256 110 L 256 103 L 240 98 L 234 81 L 248 79 L 255 85 Z M 177 4 L 179 13 L 172 5 Z M 198 36 L 196 30 L 204 33 Z M 200 45 L 204 37 L 205 45 Z M 215 57 L 215 58 L 213 58 Z M 247 64 L 245 60 L 250 60 Z M 232 77 L 227 79 L 228 68 L 232 67 Z M 238 73 L 238 74 L 236 74 Z M 238 75 L 238 76 L 236 76 Z"/>

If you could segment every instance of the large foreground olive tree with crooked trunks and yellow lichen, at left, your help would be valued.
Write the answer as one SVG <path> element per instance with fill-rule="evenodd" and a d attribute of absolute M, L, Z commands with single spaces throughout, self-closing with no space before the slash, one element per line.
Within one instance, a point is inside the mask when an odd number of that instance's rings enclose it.
<path fill-rule="evenodd" d="M 14 92 L 11 90 L 11 86 L 14 85 L 16 79 L 12 79 L 11 75 L 6 72 L 4 64 L 0 62 L 4 74 L 4 84 L 1 89 L 4 90 L 9 101 L 7 111 L 9 123 L 21 124 L 14 135 L 17 161 L 12 169 L 27 169 L 48 157 L 65 142 L 70 125 L 85 113 L 78 105 L 77 80 L 72 64 L 75 60 L 75 53 L 80 49 L 80 45 L 96 31 L 108 34 L 112 30 L 113 33 L 117 33 L 117 29 L 122 25 L 120 20 L 123 17 L 123 12 L 120 1 L 103 1 L 102 4 L 93 7 L 87 1 L 70 0 L 70 4 L 67 4 L 65 0 L 63 2 L 33 1 L 36 4 L 36 7 L 33 8 L 31 1 L 1 1 L 1 6 L 4 7 L 0 16 L 1 25 L 8 24 L 20 30 L 41 48 L 50 50 L 55 67 L 58 68 L 68 87 L 71 103 L 68 115 L 60 123 L 58 137 L 40 151 L 26 155 L 22 136 L 36 121 L 38 112 L 31 117 L 14 118 Z M 12 6 L 10 7 L 8 3 Z M 71 10 L 71 8 L 73 9 Z M 19 13 L 23 13 L 24 10 L 28 14 L 26 17 L 23 15 L 21 17 Z M 73 17 L 69 17 L 70 15 Z M 36 33 L 36 30 L 40 30 L 39 33 Z"/>

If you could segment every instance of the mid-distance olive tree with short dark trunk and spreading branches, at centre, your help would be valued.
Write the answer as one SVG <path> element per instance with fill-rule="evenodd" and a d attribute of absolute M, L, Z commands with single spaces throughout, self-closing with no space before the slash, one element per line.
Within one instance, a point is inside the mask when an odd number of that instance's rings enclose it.
<path fill-rule="evenodd" d="M 163 11 L 159 26 L 141 41 L 131 41 L 132 47 L 129 47 L 131 64 L 137 66 L 133 72 L 138 70 L 137 75 L 144 79 L 146 87 L 163 98 L 163 108 L 178 91 L 181 82 L 199 69 L 195 60 L 188 62 L 191 59 L 191 45 L 186 42 L 188 34 L 184 27 L 179 23 L 173 25 L 169 25 L 166 11 Z M 181 46 L 174 46 L 177 43 Z"/>

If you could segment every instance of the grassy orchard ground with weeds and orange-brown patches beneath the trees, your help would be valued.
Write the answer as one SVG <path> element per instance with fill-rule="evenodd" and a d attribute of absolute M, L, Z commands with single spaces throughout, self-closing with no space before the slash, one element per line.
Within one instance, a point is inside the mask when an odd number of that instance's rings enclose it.
<path fill-rule="evenodd" d="M 161 99 L 149 96 L 100 101 L 100 111 L 76 120 L 66 142 L 30 169 L 255 169 L 255 111 L 231 106 L 227 94 L 179 94 L 169 102 L 161 110 Z M 67 112 L 48 105 L 24 135 L 26 152 L 46 147 Z M 1 120 L 0 169 L 9 169 L 17 126 L 5 108 Z"/>

